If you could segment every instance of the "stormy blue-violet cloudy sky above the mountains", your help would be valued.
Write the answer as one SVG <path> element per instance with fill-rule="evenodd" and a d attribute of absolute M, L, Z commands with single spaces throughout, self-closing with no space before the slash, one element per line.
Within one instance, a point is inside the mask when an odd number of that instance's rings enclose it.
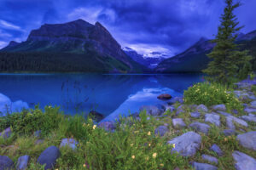
<path fill-rule="evenodd" d="M 244 33 L 256 30 L 256 1 L 241 0 Z M 170 56 L 217 33 L 224 0 L 1 0 L 0 48 L 26 41 L 33 29 L 83 19 L 100 21 L 123 47 Z"/>

